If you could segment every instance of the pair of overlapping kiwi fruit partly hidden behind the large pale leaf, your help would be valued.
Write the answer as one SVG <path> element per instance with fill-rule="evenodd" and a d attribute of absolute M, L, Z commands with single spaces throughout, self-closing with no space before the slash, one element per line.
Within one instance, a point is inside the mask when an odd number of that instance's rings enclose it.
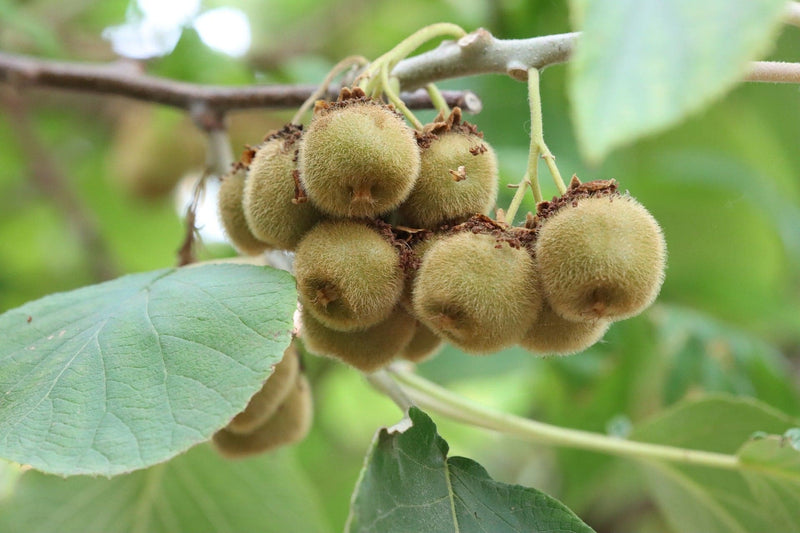
<path fill-rule="evenodd" d="M 212 443 L 225 457 L 245 458 L 301 441 L 311 419 L 311 388 L 292 342 L 261 390 L 214 434 Z"/>

